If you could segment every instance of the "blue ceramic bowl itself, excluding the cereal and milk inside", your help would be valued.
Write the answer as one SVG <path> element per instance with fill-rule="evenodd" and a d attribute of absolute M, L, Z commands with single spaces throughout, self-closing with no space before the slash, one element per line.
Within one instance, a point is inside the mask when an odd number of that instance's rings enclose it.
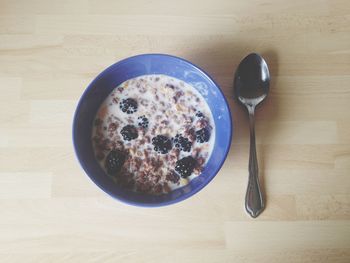
<path fill-rule="evenodd" d="M 209 104 L 216 127 L 214 149 L 203 172 L 188 185 L 159 196 L 131 192 L 116 185 L 96 161 L 91 142 L 95 114 L 108 94 L 122 82 L 146 74 L 168 75 L 195 87 Z M 231 145 L 231 133 L 231 113 L 218 85 L 208 74 L 191 62 L 163 54 L 130 57 L 105 69 L 83 93 L 73 120 L 74 148 L 86 174 L 107 194 L 137 206 L 174 204 L 201 190 L 215 177 L 223 165 Z"/>

